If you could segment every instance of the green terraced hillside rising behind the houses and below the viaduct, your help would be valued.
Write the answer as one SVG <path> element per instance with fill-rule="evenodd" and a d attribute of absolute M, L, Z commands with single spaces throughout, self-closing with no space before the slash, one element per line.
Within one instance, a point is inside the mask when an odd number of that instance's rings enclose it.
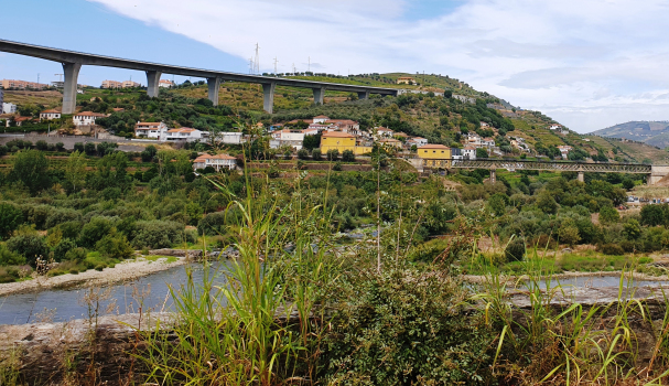
<path fill-rule="evenodd" d="M 417 84 L 397 85 L 400 76 L 411 76 Z M 550 130 L 558 124 L 540 111 L 522 110 L 494 95 L 472 88 L 464 82 L 447 76 L 425 74 L 364 74 L 338 76 L 332 74 L 304 74 L 296 78 L 314 79 L 355 85 L 398 87 L 423 93 L 450 90 L 453 96 L 472 98 L 461 101 L 432 94 L 404 94 L 399 97 L 373 96 L 358 100 L 356 94 L 326 92 L 325 104 L 315 106 L 310 89 L 277 87 L 274 114 L 262 110 L 262 88 L 256 84 L 226 82 L 220 85 L 218 107 L 211 106 L 207 86 L 203 81 L 186 82 L 173 89 L 161 89 L 158 100 L 151 100 L 141 89 L 95 89 L 88 88 L 77 95 L 79 110 L 110 114 L 99 119 L 99 125 L 120 136 L 132 136 L 138 120 L 165 121 L 171 127 L 193 127 L 202 130 L 234 130 L 240 121 L 262 121 L 266 125 L 285 122 L 293 119 L 327 115 L 336 119 L 354 119 L 362 129 L 385 126 L 395 131 L 427 138 L 431 143 L 462 147 L 467 132 L 490 137 L 505 157 L 519 157 L 520 151 L 511 147 L 514 138 L 521 138 L 530 149 L 528 157 L 559 157 L 559 146 L 574 148 L 574 160 L 594 158 L 613 159 L 615 154 L 603 143 L 584 141 L 572 131 Z M 53 92 L 51 92 L 53 93 Z M 33 93 L 39 94 L 39 93 Z M 48 95 L 54 98 L 57 95 Z M 46 99 L 46 98 L 45 98 Z M 42 101 L 37 97 L 24 100 L 22 111 L 36 116 L 44 107 L 54 107 L 53 100 Z M 28 104 L 28 106 L 26 106 Z M 30 106 L 30 104 L 34 104 Z M 28 108 L 31 107 L 31 108 Z M 122 108 L 123 111 L 115 111 Z M 54 124 L 54 122 L 52 122 Z M 489 127 L 485 127 L 488 124 Z M 483 126 L 482 126 L 483 125 Z M 46 126 L 41 130 L 46 130 Z M 25 129 L 25 128 L 22 128 Z M 30 129 L 29 129 L 30 130 Z M 40 129 L 37 129 L 40 130 Z M 572 159 L 572 156 L 570 156 Z M 654 157 L 652 159 L 657 159 Z M 639 160 L 640 161 L 640 160 Z"/>

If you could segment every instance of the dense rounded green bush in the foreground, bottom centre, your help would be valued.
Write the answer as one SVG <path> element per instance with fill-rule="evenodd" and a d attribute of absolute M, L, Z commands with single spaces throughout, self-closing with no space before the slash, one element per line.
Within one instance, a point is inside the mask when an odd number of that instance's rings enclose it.
<path fill-rule="evenodd" d="M 494 334 L 454 304 L 467 298 L 447 276 L 417 269 L 368 272 L 330 322 L 327 384 L 484 385 Z"/>

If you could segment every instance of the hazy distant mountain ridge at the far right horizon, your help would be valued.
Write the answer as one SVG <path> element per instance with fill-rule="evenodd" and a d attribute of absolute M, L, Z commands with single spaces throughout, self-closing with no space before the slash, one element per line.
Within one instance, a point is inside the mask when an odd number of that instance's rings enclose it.
<path fill-rule="evenodd" d="M 625 138 L 661 149 L 669 147 L 669 121 L 630 121 L 591 132 L 601 137 Z"/>

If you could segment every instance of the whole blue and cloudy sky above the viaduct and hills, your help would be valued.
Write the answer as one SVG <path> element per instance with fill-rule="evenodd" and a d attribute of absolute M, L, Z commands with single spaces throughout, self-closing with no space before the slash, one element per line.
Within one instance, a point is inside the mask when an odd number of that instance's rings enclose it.
<path fill-rule="evenodd" d="M 248 73 L 258 43 L 265 72 L 277 58 L 280 73 L 449 75 L 579 132 L 669 120 L 667 0 L 21 0 L 3 13 L 26 17 L 4 18 L 0 39 L 158 63 Z M 0 78 L 58 73 L 0 53 Z M 147 82 L 85 66 L 79 83 L 129 78 Z"/>

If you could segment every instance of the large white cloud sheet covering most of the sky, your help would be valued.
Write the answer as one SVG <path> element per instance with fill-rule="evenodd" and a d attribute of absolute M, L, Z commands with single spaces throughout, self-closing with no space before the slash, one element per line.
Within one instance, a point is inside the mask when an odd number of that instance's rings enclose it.
<path fill-rule="evenodd" d="M 464 0 L 421 20 L 409 0 L 89 1 L 242 58 L 258 42 L 266 69 L 449 74 L 578 131 L 669 118 L 665 0 Z"/>

